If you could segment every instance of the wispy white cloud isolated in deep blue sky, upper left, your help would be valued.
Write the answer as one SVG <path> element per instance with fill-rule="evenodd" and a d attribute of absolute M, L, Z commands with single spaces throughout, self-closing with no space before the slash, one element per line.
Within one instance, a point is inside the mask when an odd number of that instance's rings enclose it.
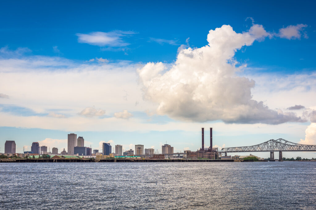
<path fill-rule="evenodd" d="M 133 31 L 95 31 L 88 34 L 77 33 L 76 36 L 79 43 L 87 43 L 100 47 L 125 47 L 130 43 L 123 40 L 123 37 L 133 34 L 135 34 Z"/>

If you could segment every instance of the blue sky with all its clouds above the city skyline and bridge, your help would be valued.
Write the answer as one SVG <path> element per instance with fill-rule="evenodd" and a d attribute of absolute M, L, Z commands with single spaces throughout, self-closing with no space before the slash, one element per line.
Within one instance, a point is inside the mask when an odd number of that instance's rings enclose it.
<path fill-rule="evenodd" d="M 201 128 L 219 149 L 316 145 L 314 4 L 3 2 L 0 152 L 6 140 L 60 152 L 68 133 L 99 150 L 195 151 Z M 296 156 L 316 153 L 283 152 Z"/>

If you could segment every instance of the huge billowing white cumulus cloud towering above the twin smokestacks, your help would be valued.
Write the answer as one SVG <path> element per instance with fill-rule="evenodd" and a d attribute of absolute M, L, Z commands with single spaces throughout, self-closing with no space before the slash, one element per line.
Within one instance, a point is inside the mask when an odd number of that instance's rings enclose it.
<path fill-rule="evenodd" d="M 236 76 L 235 52 L 269 36 L 255 24 L 236 33 L 231 26 L 210 30 L 208 45 L 180 49 L 177 60 L 167 65 L 147 63 L 137 70 L 144 99 L 158 104 L 157 114 L 187 121 L 222 120 L 226 123 L 301 122 L 292 112 L 277 112 L 252 99 L 255 81 Z"/>

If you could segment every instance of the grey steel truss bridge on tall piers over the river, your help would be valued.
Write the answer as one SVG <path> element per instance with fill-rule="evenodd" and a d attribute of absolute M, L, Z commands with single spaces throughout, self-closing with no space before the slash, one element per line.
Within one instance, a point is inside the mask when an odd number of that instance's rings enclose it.
<path fill-rule="evenodd" d="M 225 156 L 227 156 L 228 152 L 270 152 L 270 160 L 274 160 L 274 152 L 276 151 L 279 152 L 279 159 L 282 161 L 282 151 L 316 151 L 316 145 L 302 145 L 287 141 L 285 139 L 271 139 L 264 143 L 253 146 L 223 148 L 218 153 L 225 153 Z"/>

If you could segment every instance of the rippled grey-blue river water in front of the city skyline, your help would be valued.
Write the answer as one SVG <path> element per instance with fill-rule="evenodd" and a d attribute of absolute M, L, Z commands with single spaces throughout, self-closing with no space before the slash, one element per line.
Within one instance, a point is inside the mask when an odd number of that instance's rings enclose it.
<path fill-rule="evenodd" d="M 316 162 L 0 163 L 0 209 L 316 209 Z"/>

